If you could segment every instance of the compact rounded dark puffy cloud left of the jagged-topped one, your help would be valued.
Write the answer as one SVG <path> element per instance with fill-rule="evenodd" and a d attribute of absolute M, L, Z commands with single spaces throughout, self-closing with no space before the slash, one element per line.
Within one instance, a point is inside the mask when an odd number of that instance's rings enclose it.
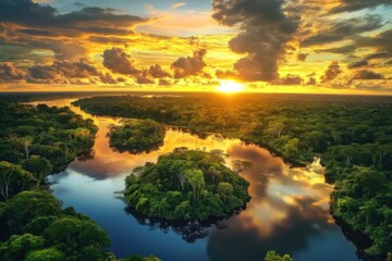
<path fill-rule="evenodd" d="M 103 51 L 103 66 L 113 73 L 135 75 L 140 71 L 136 69 L 135 61 L 121 48 L 111 48 Z"/>

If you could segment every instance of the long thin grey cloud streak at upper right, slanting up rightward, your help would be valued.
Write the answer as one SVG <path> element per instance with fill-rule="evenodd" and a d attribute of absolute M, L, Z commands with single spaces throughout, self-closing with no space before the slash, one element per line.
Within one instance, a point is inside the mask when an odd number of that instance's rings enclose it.
<path fill-rule="evenodd" d="M 375 30 L 382 25 L 382 17 L 380 15 L 342 20 L 332 23 L 327 28 L 320 29 L 318 34 L 306 38 L 301 42 L 301 46 L 309 47 L 344 40 L 365 32 Z"/>

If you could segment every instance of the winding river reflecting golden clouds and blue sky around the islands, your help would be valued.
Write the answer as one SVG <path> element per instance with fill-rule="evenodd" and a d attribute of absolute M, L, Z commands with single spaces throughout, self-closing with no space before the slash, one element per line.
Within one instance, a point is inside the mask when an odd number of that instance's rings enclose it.
<path fill-rule="evenodd" d="M 39 103 L 70 105 L 72 100 Z M 37 102 L 38 103 L 38 102 Z M 90 117 L 99 126 L 90 160 L 75 160 L 68 169 L 50 176 L 53 195 L 64 207 L 95 220 L 108 233 L 110 248 L 118 257 L 156 254 L 163 260 L 262 260 L 266 251 L 290 253 L 297 261 L 358 260 L 356 248 L 334 224 L 329 213 L 331 186 L 324 183 L 319 161 L 308 167 L 291 169 L 280 158 L 238 139 L 205 139 L 169 129 L 164 144 L 157 151 L 142 154 L 120 153 L 108 144 L 108 127 L 119 119 L 91 116 L 78 108 L 72 110 Z M 176 147 L 220 149 L 229 162 L 253 162 L 243 173 L 250 182 L 252 196 L 238 215 L 207 228 L 208 235 L 194 241 L 184 240 L 181 228 L 148 224 L 124 211 L 119 198 L 124 178 L 135 166 L 156 162 L 160 154 Z M 186 233 L 185 233 L 186 234 Z"/>

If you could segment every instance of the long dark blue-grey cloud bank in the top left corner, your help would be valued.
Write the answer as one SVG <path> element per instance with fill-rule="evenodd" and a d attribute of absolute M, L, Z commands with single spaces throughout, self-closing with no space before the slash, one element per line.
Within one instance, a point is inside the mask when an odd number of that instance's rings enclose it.
<path fill-rule="evenodd" d="M 145 21 L 138 16 L 115 14 L 113 9 L 84 8 L 79 11 L 60 14 L 54 8 L 48 4 L 35 3 L 32 0 L 0 1 L 0 22 L 33 28 L 30 32 L 25 32 L 30 34 L 49 34 L 44 30 L 45 28 L 50 30 L 72 30 L 74 34 L 124 35 L 128 30 L 121 27 L 130 27 Z"/>

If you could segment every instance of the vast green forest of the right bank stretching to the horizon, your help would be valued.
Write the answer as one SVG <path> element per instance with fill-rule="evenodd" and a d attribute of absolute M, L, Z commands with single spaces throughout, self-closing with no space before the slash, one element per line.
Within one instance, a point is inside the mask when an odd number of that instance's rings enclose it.
<path fill-rule="evenodd" d="M 255 142 L 290 162 L 320 156 L 335 185 L 331 211 L 371 240 L 369 256 L 392 251 L 392 102 L 389 97 L 189 95 L 95 97 L 74 104 L 99 115 L 154 119 L 198 133 Z"/>

